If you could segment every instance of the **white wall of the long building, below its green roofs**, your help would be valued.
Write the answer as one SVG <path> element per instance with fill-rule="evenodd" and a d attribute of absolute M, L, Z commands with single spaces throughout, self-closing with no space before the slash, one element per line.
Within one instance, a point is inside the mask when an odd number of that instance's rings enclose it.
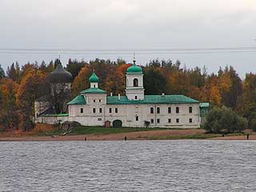
<path fill-rule="evenodd" d="M 170 114 L 168 114 L 169 106 L 171 107 Z M 179 113 L 176 113 L 176 106 L 179 107 Z M 192 106 L 192 113 L 189 113 L 190 106 Z M 150 114 L 150 107 L 154 107 L 154 114 Z M 160 107 L 159 114 L 157 113 L 158 107 Z M 83 113 L 81 113 L 81 108 Z M 102 113 L 100 113 L 100 108 Z M 110 108 L 112 113 L 110 113 Z M 115 112 L 115 108 L 118 109 L 118 113 Z M 95 113 L 93 109 L 95 109 Z M 136 121 L 136 116 L 138 116 L 138 121 Z M 179 122 L 176 122 L 177 118 Z M 192 122 L 190 122 L 190 118 Z M 151 119 L 153 119 L 153 123 L 151 123 Z M 70 106 L 69 121 L 77 121 L 84 126 L 103 126 L 104 122 L 112 123 L 114 120 L 121 120 L 122 126 L 130 127 L 143 127 L 145 121 L 148 121 L 150 127 L 198 128 L 200 127 L 199 104 Z"/>

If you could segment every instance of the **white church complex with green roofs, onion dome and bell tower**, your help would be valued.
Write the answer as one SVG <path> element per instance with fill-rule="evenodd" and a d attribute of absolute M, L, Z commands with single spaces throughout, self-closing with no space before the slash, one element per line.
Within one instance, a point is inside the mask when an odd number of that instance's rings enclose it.
<path fill-rule="evenodd" d="M 53 72 L 54 73 L 54 72 Z M 68 72 L 67 72 L 68 73 Z M 126 95 L 113 96 L 98 87 L 93 73 L 90 88 L 67 103 L 68 114 L 41 114 L 36 122 L 79 122 L 83 126 L 199 128 L 209 103 L 184 95 L 145 95 L 140 66 L 126 71 Z"/>

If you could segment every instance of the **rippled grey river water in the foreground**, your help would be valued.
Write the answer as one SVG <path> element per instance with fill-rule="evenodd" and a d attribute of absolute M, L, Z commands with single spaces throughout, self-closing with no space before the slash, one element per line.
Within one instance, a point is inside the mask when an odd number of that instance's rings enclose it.
<path fill-rule="evenodd" d="M 256 142 L 0 142 L 0 191 L 256 191 Z"/>

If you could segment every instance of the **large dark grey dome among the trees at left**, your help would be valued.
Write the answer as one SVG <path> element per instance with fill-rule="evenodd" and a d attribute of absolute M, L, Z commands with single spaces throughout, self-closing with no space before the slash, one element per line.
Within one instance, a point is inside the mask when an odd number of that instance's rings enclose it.
<path fill-rule="evenodd" d="M 49 78 L 52 83 L 72 82 L 73 80 L 72 74 L 64 70 L 62 64 L 58 64 L 56 69 L 50 73 Z"/>

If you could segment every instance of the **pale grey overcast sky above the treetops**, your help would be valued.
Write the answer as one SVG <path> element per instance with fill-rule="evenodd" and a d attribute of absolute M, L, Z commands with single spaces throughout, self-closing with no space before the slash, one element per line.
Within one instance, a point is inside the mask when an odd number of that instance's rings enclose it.
<path fill-rule="evenodd" d="M 126 50 L 126 54 L 61 54 L 68 58 L 124 58 L 132 50 L 256 46 L 255 0 L 0 0 L 0 64 L 49 62 L 58 53 L 6 54 L 6 48 Z M 1 52 L 2 51 L 2 52 Z M 221 51 L 222 52 L 222 51 Z M 238 74 L 256 72 L 256 52 L 138 54 L 179 59 L 187 67 L 216 72 L 232 65 Z"/>

